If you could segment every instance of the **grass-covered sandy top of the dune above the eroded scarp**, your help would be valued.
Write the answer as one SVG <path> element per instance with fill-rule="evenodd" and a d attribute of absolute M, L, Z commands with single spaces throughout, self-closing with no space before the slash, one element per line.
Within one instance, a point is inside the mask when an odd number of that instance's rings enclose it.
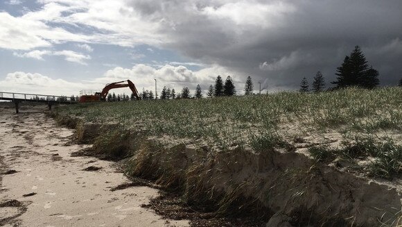
<path fill-rule="evenodd" d="M 252 146 L 264 151 L 276 146 L 321 162 L 341 159 L 351 162 L 351 170 L 385 178 L 402 169 L 400 87 L 85 103 L 55 111 L 146 135 L 207 142 L 218 149 Z M 363 159 L 370 161 L 360 163 Z"/>

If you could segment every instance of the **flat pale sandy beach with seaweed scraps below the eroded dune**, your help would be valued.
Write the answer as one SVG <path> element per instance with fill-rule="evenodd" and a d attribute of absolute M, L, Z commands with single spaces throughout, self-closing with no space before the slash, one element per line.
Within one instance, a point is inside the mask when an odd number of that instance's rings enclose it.
<path fill-rule="evenodd" d="M 111 192 L 128 179 L 114 162 L 71 157 L 85 145 L 69 144 L 73 131 L 55 126 L 45 109 L 23 107 L 15 115 L 0 107 L 0 226 L 189 225 L 141 208 L 157 196 L 150 187 Z M 101 169 L 82 170 L 87 167 Z M 11 169 L 17 172 L 4 174 Z"/>

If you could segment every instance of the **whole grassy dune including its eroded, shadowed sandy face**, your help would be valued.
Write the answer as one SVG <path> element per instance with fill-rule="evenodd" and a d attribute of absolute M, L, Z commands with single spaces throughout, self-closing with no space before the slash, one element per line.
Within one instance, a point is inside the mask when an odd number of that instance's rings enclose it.
<path fill-rule="evenodd" d="M 402 174 L 401 107 L 402 89 L 390 87 L 85 103 L 53 113 L 77 128 L 78 142 L 94 144 L 83 155 L 124 159 L 128 176 L 219 217 L 393 226 L 402 220 L 400 191 L 389 186 L 400 185 L 387 180 Z"/>

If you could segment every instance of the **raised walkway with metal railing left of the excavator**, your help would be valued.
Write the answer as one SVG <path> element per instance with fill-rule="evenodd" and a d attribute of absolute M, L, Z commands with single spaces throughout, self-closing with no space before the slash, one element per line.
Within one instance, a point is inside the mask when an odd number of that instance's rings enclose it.
<path fill-rule="evenodd" d="M 15 92 L 0 92 L 0 99 L 10 101 L 37 101 L 37 102 L 52 102 L 52 103 L 76 103 L 69 96 L 55 96 L 49 94 L 27 94 Z"/>

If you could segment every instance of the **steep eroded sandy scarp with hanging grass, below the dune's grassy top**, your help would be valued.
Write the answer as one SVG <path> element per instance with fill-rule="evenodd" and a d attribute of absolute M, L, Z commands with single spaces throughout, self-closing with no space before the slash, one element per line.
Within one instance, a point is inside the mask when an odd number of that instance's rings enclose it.
<path fill-rule="evenodd" d="M 57 118 L 57 117 L 56 117 Z M 267 226 L 397 226 L 401 196 L 394 188 L 274 148 L 221 151 L 202 142 L 146 137 L 116 125 L 83 124 L 78 142 L 94 155 L 128 158 L 126 174 L 180 191 L 191 204 L 216 212 L 252 212 Z"/>

